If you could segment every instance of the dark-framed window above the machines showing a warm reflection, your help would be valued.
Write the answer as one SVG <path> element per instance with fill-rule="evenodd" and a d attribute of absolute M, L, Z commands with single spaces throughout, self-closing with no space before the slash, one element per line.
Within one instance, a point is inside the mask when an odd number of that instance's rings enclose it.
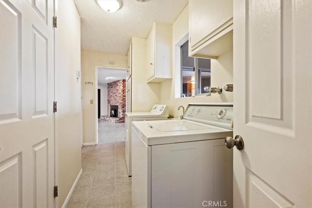
<path fill-rule="evenodd" d="M 189 57 L 189 41 L 181 45 L 181 97 L 208 93 L 211 61 Z"/>

